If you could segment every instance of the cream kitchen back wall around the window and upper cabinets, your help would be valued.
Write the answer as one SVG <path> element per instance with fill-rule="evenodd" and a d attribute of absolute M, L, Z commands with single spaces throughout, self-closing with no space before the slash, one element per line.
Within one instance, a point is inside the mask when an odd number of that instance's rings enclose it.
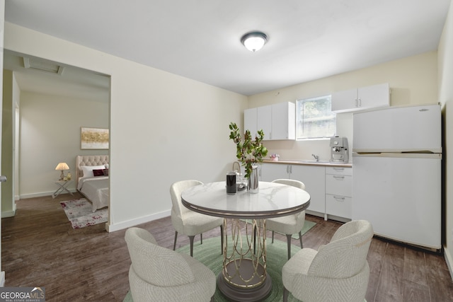
<path fill-rule="evenodd" d="M 436 103 L 438 101 L 437 52 L 428 52 L 345 74 L 252 95 L 248 100 L 250 108 L 254 108 L 273 103 L 295 102 L 300 98 L 328 95 L 335 91 L 379 83 L 389 83 L 391 105 Z M 337 135 L 348 137 L 348 143 L 352 146 L 351 113 L 337 115 Z M 281 159 L 313 159 L 312 153 L 320 155 L 321 160 L 328 160 L 330 157 L 328 139 L 268 141 L 265 146 L 270 153 L 280 154 Z M 351 157 L 350 159 L 352 160 Z"/>

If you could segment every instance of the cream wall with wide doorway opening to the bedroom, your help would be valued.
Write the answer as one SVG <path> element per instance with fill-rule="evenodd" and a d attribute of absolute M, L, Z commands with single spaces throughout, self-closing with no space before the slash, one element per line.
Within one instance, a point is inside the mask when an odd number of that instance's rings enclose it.
<path fill-rule="evenodd" d="M 172 182 L 231 170 L 228 125 L 242 124 L 246 96 L 11 23 L 5 48 L 111 76 L 109 231 L 167 216 Z"/>

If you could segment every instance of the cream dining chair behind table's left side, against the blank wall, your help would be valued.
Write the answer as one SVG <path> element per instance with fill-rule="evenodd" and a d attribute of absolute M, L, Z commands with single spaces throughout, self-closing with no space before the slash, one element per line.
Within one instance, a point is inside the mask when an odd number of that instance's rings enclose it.
<path fill-rule="evenodd" d="M 200 242 L 203 243 L 203 235 L 206 231 L 212 230 L 212 228 L 220 227 L 221 233 L 221 251 L 223 253 L 223 239 L 224 239 L 224 219 L 220 217 L 208 216 L 192 211 L 181 202 L 181 193 L 193 187 L 195 185 L 202 185 L 203 183 L 198 180 L 180 180 L 174 182 L 170 187 L 171 202 L 171 223 L 175 228 L 175 241 L 173 243 L 173 250 L 176 249 L 176 240 L 178 239 L 178 233 L 185 234 L 190 240 L 190 256 L 193 256 L 193 240 L 195 235 L 200 234 Z"/>

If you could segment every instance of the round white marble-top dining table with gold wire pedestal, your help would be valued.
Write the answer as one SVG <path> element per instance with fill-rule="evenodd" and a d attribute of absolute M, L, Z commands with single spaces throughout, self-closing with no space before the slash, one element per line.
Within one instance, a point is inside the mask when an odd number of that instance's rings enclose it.
<path fill-rule="evenodd" d="M 225 182 L 210 182 L 184 190 L 181 199 L 188 209 L 224 218 L 224 261 L 217 279 L 220 291 L 231 301 L 261 301 L 268 296 L 272 280 L 265 265 L 265 219 L 304 211 L 310 194 L 275 182 L 259 182 L 256 193 L 226 194 Z M 231 220 L 229 241 L 227 219 Z M 245 236 L 241 232 L 244 221 Z"/>

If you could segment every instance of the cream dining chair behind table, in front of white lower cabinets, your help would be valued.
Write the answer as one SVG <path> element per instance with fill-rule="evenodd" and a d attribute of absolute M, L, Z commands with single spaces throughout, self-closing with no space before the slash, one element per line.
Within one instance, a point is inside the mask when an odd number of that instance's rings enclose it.
<path fill-rule="evenodd" d="M 277 179 L 273 182 L 282 183 L 284 185 L 292 185 L 299 189 L 305 190 L 304 182 L 299 180 L 289 179 Z M 293 234 L 299 233 L 300 248 L 302 245 L 302 228 L 305 223 L 305 211 L 301 211 L 297 214 L 291 214 L 288 216 L 276 217 L 266 219 L 266 228 L 272 231 L 272 242 L 274 242 L 274 232 L 282 233 L 286 235 L 288 244 L 288 259 L 291 257 L 291 238 Z"/>

